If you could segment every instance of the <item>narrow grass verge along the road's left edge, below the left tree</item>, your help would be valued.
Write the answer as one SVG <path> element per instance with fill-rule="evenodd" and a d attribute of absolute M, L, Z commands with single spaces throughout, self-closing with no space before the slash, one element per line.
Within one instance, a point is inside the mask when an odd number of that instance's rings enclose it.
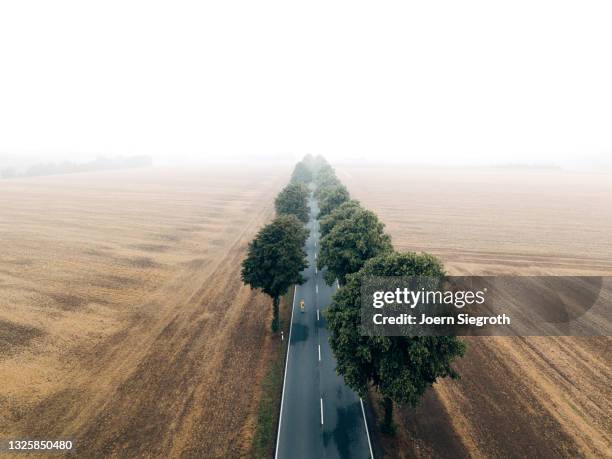
<path fill-rule="evenodd" d="M 283 296 L 280 305 L 280 330 L 284 332 L 285 339 L 281 341 L 279 331 L 277 343 L 273 346 L 268 360 L 268 368 L 262 383 L 262 395 L 257 408 L 257 426 L 251 445 L 253 459 L 274 457 L 294 288 L 295 286 L 291 287 Z"/>

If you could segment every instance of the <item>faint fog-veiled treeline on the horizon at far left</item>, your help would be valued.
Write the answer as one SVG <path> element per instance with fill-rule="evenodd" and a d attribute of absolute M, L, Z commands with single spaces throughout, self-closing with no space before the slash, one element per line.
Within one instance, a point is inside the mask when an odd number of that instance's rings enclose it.
<path fill-rule="evenodd" d="M 28 167 L 23 173 L 18 173 L 12 167 L 6 167 L 0 171 L 0 177 L 6 179 L 14 177 L 76 174 L 79 172 L 145 167 L 151 166 L 152 164 L 153 159 L 150 156 L 118 156 L 115 158 L 102 157 L 85 163 L 75 163 L 73 161 L 38 163 Z"/>

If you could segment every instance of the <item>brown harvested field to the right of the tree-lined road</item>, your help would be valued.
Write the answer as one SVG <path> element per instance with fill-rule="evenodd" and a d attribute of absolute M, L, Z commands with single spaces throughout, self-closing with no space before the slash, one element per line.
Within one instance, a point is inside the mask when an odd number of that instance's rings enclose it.
<path fill-rule="evenodd" d="M 612 275 L 610 174 L 337 169 L 396 248 L 434 253 L 449 274 Z M 398 439 L 379 438 L 389 457 L 612 456 L 612 338 L 467 341 L 461 380 L 400 410 Z"/>

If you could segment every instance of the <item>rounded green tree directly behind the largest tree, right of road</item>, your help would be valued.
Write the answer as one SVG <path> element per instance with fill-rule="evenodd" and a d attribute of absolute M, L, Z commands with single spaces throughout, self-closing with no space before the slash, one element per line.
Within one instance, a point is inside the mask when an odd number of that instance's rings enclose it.
<path fill-rule="evenodd" d="M 343 284 L 346 276 L 359 271 L 367 260 L 393 250 L 384 227 L 374 212 L 365 209 L 334 225 L 321 239 L 318 258 L 319 269 L 327 266 L 327 283 L 338 279 Z"/>

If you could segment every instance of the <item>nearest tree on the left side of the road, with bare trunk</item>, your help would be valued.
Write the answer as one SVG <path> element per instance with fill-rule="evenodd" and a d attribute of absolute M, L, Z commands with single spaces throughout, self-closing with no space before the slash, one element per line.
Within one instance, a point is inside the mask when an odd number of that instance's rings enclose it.
<path fill-rule="evenodd" d="M 242 262 L 242 282 L 272 298 L 272 331 L 278 330 L 278 304 L 289 287 L 304 282 L 308 266 L 304 244 L 308 231 L 293 215 L 280 215 L 249 244 Z"/>

